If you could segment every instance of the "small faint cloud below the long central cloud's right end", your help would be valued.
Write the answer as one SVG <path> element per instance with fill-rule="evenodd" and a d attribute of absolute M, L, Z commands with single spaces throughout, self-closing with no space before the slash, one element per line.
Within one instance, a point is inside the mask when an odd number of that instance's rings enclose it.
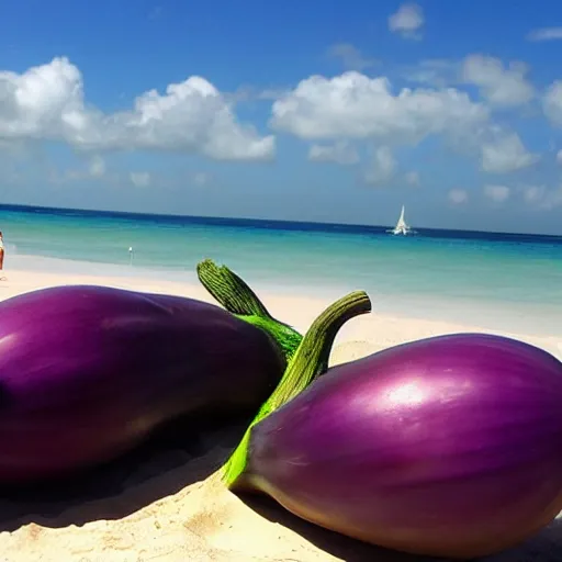
<path fill-rule="evenodd" d="M 482 169 L 491 173 L 507 173 L 532 166 L 540 156 L 529 153 L 516 133 L 502 134 L 482 145 Z"/>

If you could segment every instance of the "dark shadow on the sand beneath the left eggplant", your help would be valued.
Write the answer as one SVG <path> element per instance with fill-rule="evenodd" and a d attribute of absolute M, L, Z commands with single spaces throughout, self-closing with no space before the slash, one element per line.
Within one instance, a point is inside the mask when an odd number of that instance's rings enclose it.
<path fill-rule="evenodd" d="M 120 519 L 202 481 L 217 470 L 239 442 L 248 420 L 205 429 L 176 422 L 128 454 L 57 482 L 0 488 L 0 532 L 35 522 L 81 526 Z"/>

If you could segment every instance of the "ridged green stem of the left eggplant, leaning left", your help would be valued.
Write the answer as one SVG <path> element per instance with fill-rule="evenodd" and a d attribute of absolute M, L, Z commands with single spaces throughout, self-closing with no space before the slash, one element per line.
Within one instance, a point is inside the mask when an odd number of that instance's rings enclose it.
<path fill-rule="evenodd" d="M 273 318 L 249 285 L 226 266 L 204 259 L 196 269 L 201 284 L 211 295 L 231 314 L 267 331 L 289 363 L 303 339 L 301 334 Z"/>

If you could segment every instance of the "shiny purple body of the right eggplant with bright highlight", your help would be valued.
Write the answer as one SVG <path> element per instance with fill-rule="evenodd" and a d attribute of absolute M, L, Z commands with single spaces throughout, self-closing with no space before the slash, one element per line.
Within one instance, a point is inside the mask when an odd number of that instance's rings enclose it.
<path fill-rule="evenodd" d="M 562 509 L 562 363 L 484 334 L 404 344 L 329 369 L 255 422 L 243 453 L 235 493 L 380 547 L 490 555 Z"/>

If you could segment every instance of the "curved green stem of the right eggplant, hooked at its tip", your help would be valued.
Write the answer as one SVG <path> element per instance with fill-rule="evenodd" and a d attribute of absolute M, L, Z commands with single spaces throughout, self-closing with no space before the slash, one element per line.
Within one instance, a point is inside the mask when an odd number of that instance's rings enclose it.
<path fill-rule="evenodd" d="M 248 460 L 251 428 L 272 412 L 299 395 L 328 369 L 334 340 L 341 326 L 360 314 L 371 312 L 371 301 L 364 291 L 355 291 L 328 306 L 312 324 L 291 359 L 281 382 L 263 403 L 246 430 L 240 443 L 223 468 L 228 487 L 244 473 Z"/>

